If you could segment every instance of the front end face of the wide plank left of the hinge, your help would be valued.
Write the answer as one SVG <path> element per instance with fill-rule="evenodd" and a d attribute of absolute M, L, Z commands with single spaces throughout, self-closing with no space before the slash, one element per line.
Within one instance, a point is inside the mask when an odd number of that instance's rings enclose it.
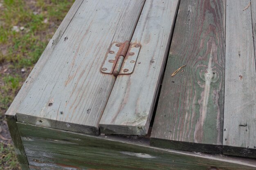
<path fill-rule="evenodd" d="M 65 121 L 55 121 L 52 119 L 46 119 L 43 117 L 35 117 L 32 115 L 26 115 L 17 113 L 17 121 L 21 123 L 34 124 L 37 126 L 43 126 L 47 128 L 54 128 L 59 130 L 67 130 L 71 132 L 78 132 L 88 135 L 99 135 L 99 128 L 95 126 L 86 126 L 81 124 L 67 123 Z"/>

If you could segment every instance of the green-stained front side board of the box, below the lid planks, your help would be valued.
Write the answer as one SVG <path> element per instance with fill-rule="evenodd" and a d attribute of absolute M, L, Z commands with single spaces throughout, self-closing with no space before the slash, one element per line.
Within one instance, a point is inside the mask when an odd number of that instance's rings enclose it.
<path fill-rule="evenodd" d="M 17 124 L 31 169 L 255 170 L 256 168 L 255 160 L 165 150 L 149 146 L 149 141 L 146 139 L 97 137 L 19 122 Z"/>

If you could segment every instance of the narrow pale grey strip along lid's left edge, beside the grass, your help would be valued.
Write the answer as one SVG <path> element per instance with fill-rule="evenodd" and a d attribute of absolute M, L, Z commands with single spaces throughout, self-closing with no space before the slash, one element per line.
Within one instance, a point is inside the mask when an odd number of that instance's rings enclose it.
<path fill-rule="evenodd" d="M 43 67 L 45 66 L 45 63 L 48 61 L 49 57 L 51 56 L 56 45 L 58 44 L 59 40 L 63 36 L 64 31 L 67 29 L 67 26 L 70 24 L 71 20 L 73 19 L 74 15 L 76 14 L 76 11 L 79 9 L 82 2 L 83 0 L 76 0 L 74 2 L 72 7 L 70 8 L 70 11 L 68 11 L 67 15 L 61 22 L 57 31 L 54 33 L 52 39 L 49 41 L 48 45 L 46 46 L 45 51 L 43 51 L 43 54 L 41 55 L 38 62 L 34 66 L 34 69 L 29 74 L 29 77 L 27 77 L 25 83 L 21 87 L 19 93 L 11 103 L 11 106 L 9 107 L 5 115 L 14 115 L 14 116 L 16 115 L 17 109 L 20 106 L 20 103 L 27 96 L 27 91 L 29 90 L 29 88 L 34 84 L 35 77 L 37 77 L 39 73 L 42 71 Z"/>

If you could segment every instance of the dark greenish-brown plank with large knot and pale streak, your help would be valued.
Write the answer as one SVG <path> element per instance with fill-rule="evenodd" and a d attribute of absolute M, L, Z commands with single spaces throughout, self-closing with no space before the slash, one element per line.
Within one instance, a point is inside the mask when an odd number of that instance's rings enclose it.
<path fill-rule="evenodd" d="M 224 65 L 225 0 L 181 0 L 151 145 L 221 152 Z"/>

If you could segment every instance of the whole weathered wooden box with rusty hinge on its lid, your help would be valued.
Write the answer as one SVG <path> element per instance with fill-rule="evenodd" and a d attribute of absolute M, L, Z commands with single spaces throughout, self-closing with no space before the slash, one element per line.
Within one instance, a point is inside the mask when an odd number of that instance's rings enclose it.
<path fill-rule="evenodd" d="M 255 170 L 255 11 L 76 0 L 6 113 L 22 170 Z"/>

